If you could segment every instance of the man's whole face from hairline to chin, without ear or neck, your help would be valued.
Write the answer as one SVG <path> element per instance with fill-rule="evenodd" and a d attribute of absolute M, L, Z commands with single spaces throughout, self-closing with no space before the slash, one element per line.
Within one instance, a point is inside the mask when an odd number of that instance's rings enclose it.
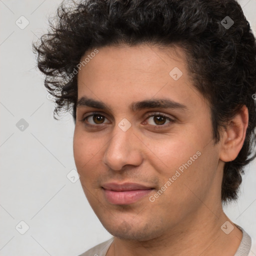
<path fill-rule="evenodd" d="M 97 50 L 78 72 L 73 137 L 88 202 L 120 238 L 185 229 L 209 212 L 201 201 L 219 205 L 221 185 L 210 108 L 185 55 L 143 44 Z"/>

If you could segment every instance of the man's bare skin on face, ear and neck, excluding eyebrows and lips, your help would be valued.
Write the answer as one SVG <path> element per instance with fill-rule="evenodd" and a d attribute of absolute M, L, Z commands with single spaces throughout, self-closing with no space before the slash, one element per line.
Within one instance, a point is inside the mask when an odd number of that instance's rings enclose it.
<path fill-rule="evenodd" d="M 221 130 L 214 145 L 209 103 L 192 85 L 181 48 L 141 44 L 98 50 L 78 72 L 78 100 L 100 100 L 111 110 L 77 106 L 73 153 L 86 198 L 114 236 L 107 256 L 234 255 L 242 232 L 222 210 L 221 180 L 224 162 L 242 147 L 247 108 Z M 178 80 L 169 75 L 173 67 L 183 73 Z M 133 101 L 154 98 L 172 99 L 187 109 L 129 109 Z M 92 111 L 103 118 L 81 121 Z M 174 121 L 165 118 L 159 125 L 148 117 L 155 112 Z M 123 118 L 131 124 L 126 131 L 118 126 Z M 149 201 L 197 151 L 201 155 Z M 137 182 L 154 189 L 134 203 L 115 205 L 104 197 L 105 182 Z M 220 228 L 226 220 L 234 226 L 229 234 Z"/>

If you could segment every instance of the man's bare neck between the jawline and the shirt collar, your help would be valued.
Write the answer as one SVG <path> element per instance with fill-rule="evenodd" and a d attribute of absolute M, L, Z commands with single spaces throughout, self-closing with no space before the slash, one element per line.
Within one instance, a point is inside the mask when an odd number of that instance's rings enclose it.
<path fill-rule="evenodd" d="M 230 223 L 222 226 L 225 221 Z M 227 232 L 231 225 L 233 230 L 226 234 L 223 230 Z M 212 211 L 202 204 L 200 212 L 174 225 L 160 237 L 148 241 L 114 237 L 106 256 L 233 256 L 241 239 L 242 232 L 225 215 L 221 205 Z"/>

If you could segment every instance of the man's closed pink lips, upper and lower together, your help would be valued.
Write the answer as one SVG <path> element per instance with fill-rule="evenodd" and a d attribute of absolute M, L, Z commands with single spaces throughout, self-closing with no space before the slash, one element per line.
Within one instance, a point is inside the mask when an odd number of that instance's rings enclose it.
<path fill-rule="evenodd" d="M 105 183 L 105 199 L 111 204 L 131 204 L 148 195 L 154 188 L 138 183 Z"/>

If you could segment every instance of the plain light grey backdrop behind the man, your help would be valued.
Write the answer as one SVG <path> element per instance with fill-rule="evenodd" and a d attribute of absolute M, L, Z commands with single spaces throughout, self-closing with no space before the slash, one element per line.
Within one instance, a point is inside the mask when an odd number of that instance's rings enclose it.
<path fill-rule="evenodd" d="M 90 208 L 75 169 L 70 114 L 54 120 L 54 103 L 36 70 L 31 42 L 46 32 L 60 0 L 0 0 L 0 255 L 77 256 L 111 235 Z M 256 0 L 242 0 L 256 33 Z M 24 16 L 29 24 L 25 24 Z M 21 21 L 20 21 L 21 19 Z M 19 26 L 15 21 L 19 22 Z M 21 131 L 16 123 L 28 123 Z M 21 127 L 20 127 L 21 128 Z M 245 170 L 230 219 L 256 240 L 256 162 Z M 24 233 L 25 224 L 29 229 Z M 16 228 L 15 228 L 16 227 Z M 256 248 L 252 249 L 256 255 Z"/>

